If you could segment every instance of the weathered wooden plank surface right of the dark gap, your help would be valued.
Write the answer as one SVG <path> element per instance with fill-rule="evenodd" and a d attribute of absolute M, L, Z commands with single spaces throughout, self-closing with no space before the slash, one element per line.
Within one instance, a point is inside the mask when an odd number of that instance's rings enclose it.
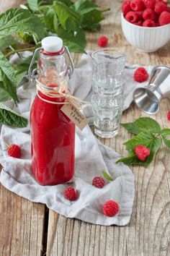
<path fill-rule="evenodd" d="M 109 47 L 119 48 L 127 55 L 131 64 L 141 65 L 170 65 L 170 43 L 157 53 L 145 54 L 130 46 L 122 35 L 120 28 L 120 1 L 97 1 L 103 7 L 111 5 L 107 20 L 102 22 L 99 33 L 88 33 L 87 48 L 96 50 L 97 39 L 100 35 L 107 35 Z M 117 20 L 115 22 L 115 14 Z M 78 59 L 78 57 L 76 57 Z M 161 109 L 153 117 L 161 127 L 170 128 L 166 120 L 166 112 L 170 109 L 170 101 L 161 102 Z M 147 116 L 132 104 L 122 115 L 122 122 L 133 121 L 134 118 Z M 117 137 L 102 142 L 117 152 L 125 155 L 122 142 L 131 137 L 125 129 L 120 128 Z M 135 176 L 135 202 L 130 224 L 125 227 L 95 226 L 79 220 L 59 216 L 50 210 L 48 226 L 48 256 L 116 256 L 116 255 L 170 255 L 170 154 L 164 145 L 157 154 L 156 160 L 150 167 L 133 167 Z"/>

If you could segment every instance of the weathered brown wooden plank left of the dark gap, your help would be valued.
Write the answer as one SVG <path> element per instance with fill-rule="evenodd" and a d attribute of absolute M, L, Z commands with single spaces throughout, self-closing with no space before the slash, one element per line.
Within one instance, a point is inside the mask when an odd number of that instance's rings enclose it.
<path fill-rule="evenodd" d="M 0 1 L 0 13 L 23 2 Z M 0 255 L 42 255 L 45 206 L 14 195 L 1 185 L 0 202 Z"/>

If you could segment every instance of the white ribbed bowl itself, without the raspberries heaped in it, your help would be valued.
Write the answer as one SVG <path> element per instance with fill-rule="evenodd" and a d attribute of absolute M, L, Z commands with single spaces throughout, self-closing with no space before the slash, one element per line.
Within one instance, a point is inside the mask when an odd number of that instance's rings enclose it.
<path fill-rule="evenodd" d="M 170 39 L 170 24 L 160 27 L 141 27 L 125 20 L 123 14 L 121 24 L 126 40 L 143 52 L 157 51 Z"/>

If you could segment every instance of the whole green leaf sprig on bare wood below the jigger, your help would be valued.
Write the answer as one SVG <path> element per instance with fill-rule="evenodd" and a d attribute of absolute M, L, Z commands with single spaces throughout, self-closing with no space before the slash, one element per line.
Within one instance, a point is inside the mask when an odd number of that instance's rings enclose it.
<path fill-rule="evenodd" d="M 125 158 L 120 158 L 117 163 L 122 162 L 128 165 L 133 164 L 147 167 L 153 161 L 154 155 L 156 155 L 161 147 L 162 140 L 166 147 L 170 149 L 170 129 L 161 129 L 158 122 L 154 119 L 141 117 L 133 123 L 121 125 L 128 132 L 136 136 L 123 143 L 129 155 Z M 135 155 L 135 147 L 137 145 L 143 145 L 150 149 L 151 153 L 146 158 L 146 161 L 140 161 Z"/>

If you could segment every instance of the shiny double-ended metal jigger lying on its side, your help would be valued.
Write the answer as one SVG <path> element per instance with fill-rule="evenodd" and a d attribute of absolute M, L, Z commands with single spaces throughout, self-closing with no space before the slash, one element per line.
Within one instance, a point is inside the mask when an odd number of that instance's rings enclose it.
<path fill-rule="evenodd" d="M 156 114 L 162 98 L 170 97 L 170 67 L 156 66 L 151 71 L 151 78 L 146 88 L 137 88 L 133 101 L 140 110 L 147 114 Z M 169 76 L 169 80 L 166 78 Z"/>

